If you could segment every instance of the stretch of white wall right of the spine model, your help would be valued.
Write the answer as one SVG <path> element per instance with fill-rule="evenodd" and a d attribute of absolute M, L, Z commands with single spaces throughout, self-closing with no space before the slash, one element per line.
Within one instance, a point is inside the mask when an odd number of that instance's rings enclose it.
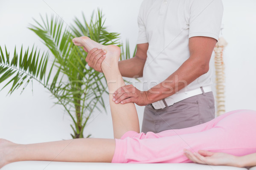
<path fill-rule="evenodd" d="M 226 110 L 256 110 L 256 1 L 223 0 Z"/>

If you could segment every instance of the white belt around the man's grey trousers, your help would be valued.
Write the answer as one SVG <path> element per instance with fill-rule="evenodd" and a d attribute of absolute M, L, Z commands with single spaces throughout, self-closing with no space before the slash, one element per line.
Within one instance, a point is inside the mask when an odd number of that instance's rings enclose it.
<path fill-rule="evenodd" d="M 202 88 L 202 89 L 201 89 Z M 187 99 L 192 96 L 196 96 L 198 94 L 208 93 L 212 91 L 211 86 L 204 86 L 201 88 L 196 88 L 190 91 L 183 91 L 177 94 L 173 94 L 172 96 L 166 97 L 163 100 L 159 100 L 157 102 L 152 103 L 151 105 L 154 107 L 154 109 L 163 109 L 167 108 L 168 106 L 171 106 L 177 102 L 180 102 L 181 100 Z"/>

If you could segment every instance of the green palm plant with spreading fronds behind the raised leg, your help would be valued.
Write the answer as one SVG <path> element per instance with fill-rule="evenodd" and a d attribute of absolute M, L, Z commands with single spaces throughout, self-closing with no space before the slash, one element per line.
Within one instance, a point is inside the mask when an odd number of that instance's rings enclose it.
<path fill-rule="evenodd" d="M 95 109 L 105 108 L 102 94 L 105 93 L 104 75 L 87 65 L 87 53 L 73 45 L 74 37 L 87 36 L 103 45 L 118 45 L 119 34 L 108 32 L 104 27 L 102 12 L 98 10 L 90 22 L 84 17 L 75 18 L 74 24 L 65 26 L 59 17 L 42 17 L 41 22 L 29 29 L 40 37 L 49 52 L 40 52 L 34 46 L 32 50 L 21 48 L 10 57 L 8 50 L 0 46 L 0 84 L 11 87 L 12 94 L 21 86 L 26 88 L 29 82 L 39 82 L 56 99 L 55 104 L 62 105 L 73 123 L 73 138 L 84 138 L 84 127 Z M 122 48 L 123 49 L 123 48 Z M 54 59 L 49 63 L 49 57 Z M 130 58 L 129 47 L 121 58 Z M 2 90 L 1 88 L 0 90 Z M 90 135 L 86 136 L 90 137 Z"/>

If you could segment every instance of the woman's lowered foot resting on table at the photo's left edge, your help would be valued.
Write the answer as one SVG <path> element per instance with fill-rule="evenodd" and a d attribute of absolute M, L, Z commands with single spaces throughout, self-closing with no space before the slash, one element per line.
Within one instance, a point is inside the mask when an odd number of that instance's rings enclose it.
<path fill-rule="evenodd" d="M 0 168 L 13 162 L 13 149 L 15 146 L 17 146 L 17 144 L 5 139 L 0 139 Z"/>

